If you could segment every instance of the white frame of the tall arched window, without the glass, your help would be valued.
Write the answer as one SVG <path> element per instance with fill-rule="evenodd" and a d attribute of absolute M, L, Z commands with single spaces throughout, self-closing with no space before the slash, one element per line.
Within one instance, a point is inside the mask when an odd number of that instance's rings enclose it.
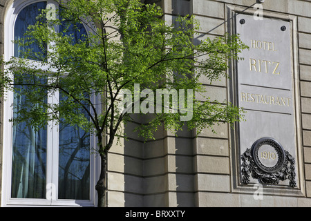
<path fill-rule="evenodd" d="M 4 21 L 4 60 L 9 61 L 14 56 L 14 26 L 19 12 L 32 3 L 44 0 L 16 0 L 6 10 Z M 46 0 L 47 5 L 50 3 L 57 4 L 54 1 Z M 58 7 L 58 6 L 57 6 Z M 87 32 L 91 32 L 90 28 L 84 26 Z M 31 61 L 32 63 L 39 61 Z M 42 70 L 46 70 L 48 66 L 41 66 Z M 90 200 L 58 200 L 58 171 L 59 171 L 59 148 L 58 148 L 58 126 L 52 122 L 48 124 L 47 131 L 47 150 L 46 150 L 46 199 L 29 199 L 29 198 L 11 198 L 11 182 L 12 182 L 12 119 L 13 110 L 13 93 L 5 92 L 5 101 L 3 104 L 3 172 L 2 172 L 2 193 L 1 206 L 96 206 L 97 193 L 95 191 L 95 182 L 99 177 L 100 159 L 96 154 L 92 154 L 91 148 L 97 145 L 97 138 L 92 135 L 90 137 Z M 48 102 L 58 102 L 58 93 L 53 97 L 48 96 Z M 98 97 L 91 97 L 93 102 Z M 97 107 L 100 111 L 100 107 Z M 57 162 L 57 163 L 55 163 Z"/>

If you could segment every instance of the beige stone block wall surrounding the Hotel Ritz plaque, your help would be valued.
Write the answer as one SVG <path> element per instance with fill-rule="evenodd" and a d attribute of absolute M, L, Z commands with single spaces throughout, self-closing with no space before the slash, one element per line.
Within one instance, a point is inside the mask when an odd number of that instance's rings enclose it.
<path fill-rule="evenodd" d="M 0 52 L 3 53 L 3 18 L 9 1 L 0 1 Z M 227 32 L 228 8 L 254 10 L 256 0 L 160 0 L 168 22 L 176 15 L 195 15 L 200 21 L 197 39 L 222 36 Z M 159 128 L 156 140 L 143 142 L 133 133 L 137 122 L 124 129 L 127 140 L 115 144 L 108 156 L 108 206 L 311 206 L 311 1 L 265 0 L 263 12 L 296 17 L 299 127 L 296 136 L 297 179 L 295 191 L 263 188 L 263 198 L 255 199 L 256 186 L 238 189 L 236 136 L 230 126 L 220 123 L 213 133 L 198 137 L 187 128 L 174 137 Z M 265 14 L 264 14 L 265 16 Z M 232 88 L 227 79 L 209 84 L 202 79 L 211 99 L 230 100 Z M 1 110 L 0 110 L 1 111 Z M 2 113 L 2 111 L 1 111 Z M 1 125 L 1 124 L 0 124 Z M 3 128 L 1 128 L 2 130 Z M 2 133 L 0 144 L 2 140 Z M 1 148 L 6 148 L 1 146 Z M 0 152 L 1 153 L 1 152 Z M 1 164 L 0 164 L 1 165 Z M 1 168 L 0 168 L 1 169 Z M 1 179 L 1 177 L 0 177 Z M 254 187 L 254 188 L 253 188 Z M 265 194 L 267 193 L 267 194 Z"/>

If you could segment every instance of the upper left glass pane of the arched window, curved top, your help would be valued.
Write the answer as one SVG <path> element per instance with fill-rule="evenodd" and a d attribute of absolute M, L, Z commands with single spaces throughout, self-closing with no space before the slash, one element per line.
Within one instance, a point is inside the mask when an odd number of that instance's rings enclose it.
<path fill-rule="evenodd" d="M 14 39 L 15 39 L 15 46 L 14 46 L 14 56 L 15 57 L 21 57 L 21 58 L 27 58 L 27 59 L 34 59 L 34 60 L 43 60 L 46 57 L 46 50 L 41 50 L 38 43 L 32 43 L 29 46 L 21 47 L 19 44 L 17 44 L 16 41 L 19 41 L 25 37 L 25 33 L 28 30 L 28 26 L 35 25 L 36 23 L 36 17 L 40 15 L 41 12 L 39 10 L 43 10 L 46 8 L 46 2 L 38 2 L 33 3 L 30 6 L 26 6 L 26 8 L 23 8 L 21 12 L 19 12 L 19 15 L 17 17 L 17 20 L 15 22 L 14 27 Z M 44 48 L 46 48 L 45 45 L 43 45 Z M 32 55 L 31 57 L 24 57 L 23 52 L 28 51 L 29 49 L 32 49 Z M 38 53 L 38 55 L 35 55 L 35 52 Z"/>

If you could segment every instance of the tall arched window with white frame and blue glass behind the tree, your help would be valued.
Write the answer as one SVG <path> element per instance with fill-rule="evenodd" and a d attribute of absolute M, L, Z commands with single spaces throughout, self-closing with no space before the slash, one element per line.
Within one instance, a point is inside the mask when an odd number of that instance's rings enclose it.
<path fill-rule="evenodd" d="M 15 1 L 8 9 L 5 22 L 5 59 L 25 59 L 24 53 L 32 49 L 29 62 L 48 59 L 48 46 L 36 42 L 21 48 L 13 40 L 23 39 L 29 25 L 36 22 L 39 10 L 57 8 L 53 1 Z M 85 41 L 87 31 L 81 23 L 78 30 L 64 21 L 58 28 L 63 35 L 72 37 L 73 44 Z M 38 79 L 45 81 L 48 79 Z M 28 90 L 23 86 L 21 90 Z M 44 95 L 46 102 L 62 102 L 61 93 Z M 95 156 L 91 146 L 95 138 L 82 128 L 52 122 L 35 131 L 30 123 L 12 124 L 9 119 L 20 117 L 19 107 L 28 102 L 23 95 L 8 93 L 4 104 L 3 128 L 6 128 L 3 155 L 2 204 L 92 206 L 95 203 Z M 85 114 L 81 110 L 82 114 Z"/>

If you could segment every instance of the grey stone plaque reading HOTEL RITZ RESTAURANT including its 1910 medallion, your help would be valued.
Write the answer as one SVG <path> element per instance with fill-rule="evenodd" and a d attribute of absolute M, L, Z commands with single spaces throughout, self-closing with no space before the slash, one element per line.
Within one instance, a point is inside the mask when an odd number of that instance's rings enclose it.
<path fill-rule="evenodd" d="M 291 23 L 239 14 L 236 33 L 249 46 L 249 50 L 241 53 L 243 60 L 236 66 L 236 101 L 246 111 L 245 121 L 238 125 L 242 183 L 257 179 L 267 184 L 295 186 Z M 286 171 L 284 168 L 289 164 L 292 169 Z M 253 175 L 249 181 L 245 181 L 247 170 Z M 283 177 L 278 177 L 281 173 Z M 288 173 L 292 177 L 288 177 Z"/>

